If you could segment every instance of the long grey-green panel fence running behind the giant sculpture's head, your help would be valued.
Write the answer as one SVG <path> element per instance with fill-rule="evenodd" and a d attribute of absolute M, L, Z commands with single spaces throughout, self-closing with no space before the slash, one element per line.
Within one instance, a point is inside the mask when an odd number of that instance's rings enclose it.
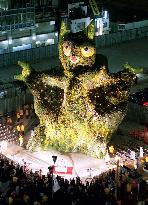
<path fill-rule="evenodd" d="M 114 44 L 140 39 L 143 37 L 148 37 L 148 27 L 102 35 L 96 37 L 96 48 L 99 50 L 100 47 L 112 46 Z M 52 59 L 53 57 L 58 60 L 57 44 L 32 48 L 14 53 L 0 54 L 0 67 L 17 64 L 18 60 L 37 63 L 43 58 Z M 52 63 L 50 66 L 52 66 Z"/>

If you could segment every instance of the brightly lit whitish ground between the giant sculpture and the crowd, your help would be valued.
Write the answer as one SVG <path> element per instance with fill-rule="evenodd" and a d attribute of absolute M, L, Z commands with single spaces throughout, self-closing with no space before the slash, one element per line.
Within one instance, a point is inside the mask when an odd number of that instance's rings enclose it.
<path fill-rule="evenodd" d="M 25 161 L 28 169 L 32 169 L 33 172 L 41 169 L 45 175 L 48 172 L 48 167 L 53 165 L 52 156 L 57 156 L 55 166 L 63 166 L 64 164 L 64 166 L 73 167 L 72 175 L 65 175 L 66 178 L 77 176 L 87 178 L 90 176 L 90 171 L 91 177 L 93 177 L 108 170 L 104 160 L 81 153 L 63 154 L 53 149 L 30 152 L 16 144 L 8 144 L 7 149 L 1 150 L 1 153 L 22 166 Z"/>

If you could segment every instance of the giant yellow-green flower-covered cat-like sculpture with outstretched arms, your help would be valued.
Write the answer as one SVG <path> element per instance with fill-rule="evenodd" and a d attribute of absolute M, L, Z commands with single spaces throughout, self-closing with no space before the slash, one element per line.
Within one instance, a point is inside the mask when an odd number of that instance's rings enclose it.
<path fill-rule="evenodd" d="M 105 155 L 112 133 L 126 115 L 134 74 L 110 74 L 98 62 L 93 24 L 74 34 L 62 23 L 59 58 L 62 66 L 52 73 L 39 73 L 19 62 L 23 70 L 15 79 L 32 92 L 40 120 L 27 148 Z"/>

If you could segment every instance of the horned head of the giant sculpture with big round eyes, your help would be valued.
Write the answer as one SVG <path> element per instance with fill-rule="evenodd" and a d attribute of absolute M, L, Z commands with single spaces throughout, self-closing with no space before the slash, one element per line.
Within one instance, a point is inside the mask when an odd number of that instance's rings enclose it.
<path fill-rule="evenodd" d="M 94 24 L 77 33 L 70 32 L 64 22 L 59 35 L 59 58 L 64 70 L 73 72 L 79 66 L 91 67 L 95 62 L 96 48 Z"/>

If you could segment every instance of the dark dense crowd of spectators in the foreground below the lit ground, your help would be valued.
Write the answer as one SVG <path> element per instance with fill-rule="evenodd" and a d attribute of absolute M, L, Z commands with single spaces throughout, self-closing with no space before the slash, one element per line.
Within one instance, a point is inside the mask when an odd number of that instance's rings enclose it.
<path fill-rule="evenodd" d="M 54 187 L 57 184 L 58 188 Z M 46 176 L 41 170 L 26 171 L 25 163 L 20 165 L 0 155 L 0 205 L 137 205 L 138 201 L 146 205 L 147 193 L 146 181 L 137 181 L 122 169 L 118 181 L 115 169 L 91 180 L 68 180 L 53 177 L 51 170 Z"/>

